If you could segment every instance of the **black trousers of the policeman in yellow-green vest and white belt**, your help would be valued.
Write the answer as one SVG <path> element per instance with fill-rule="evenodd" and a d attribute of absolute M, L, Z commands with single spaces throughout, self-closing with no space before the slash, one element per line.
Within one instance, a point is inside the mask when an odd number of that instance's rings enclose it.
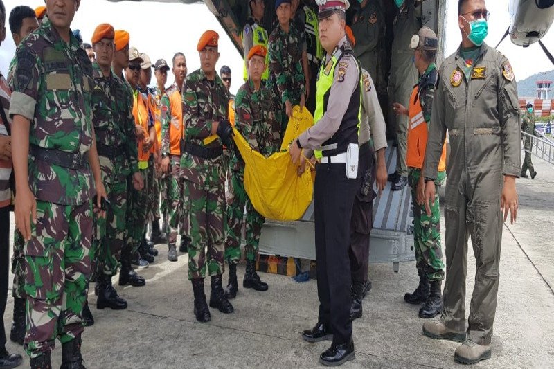
<path fill-rule="evenodd" d="M 330 325 L 333 343 L 352 336 L 350 321 L 350 219 L 360 179 L 346 178 L 344 164 L 319 164 L 314 186 L 319 322 Z"/>

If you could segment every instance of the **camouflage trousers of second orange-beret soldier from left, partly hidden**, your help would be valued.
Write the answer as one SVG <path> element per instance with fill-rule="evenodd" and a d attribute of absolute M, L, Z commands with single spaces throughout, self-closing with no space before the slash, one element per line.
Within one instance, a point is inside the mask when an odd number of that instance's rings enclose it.
<path fill-rule="evenodd" d="M 149 168 L 140 169 L 143 176 L 144 187 L 138 191 L 132 184 L 132 177 L 127 178 L 127 212 L 125 213 L 125 245 L 131 255 L 136 253 L 141 245 L 144 230 L 148 222 L 148 182 Z"/>

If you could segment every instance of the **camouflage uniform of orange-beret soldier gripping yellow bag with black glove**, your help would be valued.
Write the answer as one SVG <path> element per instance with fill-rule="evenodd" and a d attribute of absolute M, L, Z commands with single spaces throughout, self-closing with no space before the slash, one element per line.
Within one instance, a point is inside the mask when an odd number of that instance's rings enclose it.
<path fill-rule="evenodd" d="M 214 81 L 208 80 L 202 70 L 188 75 L 183 89 L 186 148 L 181 159 L 181 175 L 185 179 L 184 193 L 188 198 L 185 206 L 189 212 L 192 239 L 188 246 L 189 280 L 204 278 L 206 264 L 210 276 L 224 271 L 225 172 L 222 142 L 218 138 L 206 146 L 202 140 L 211 135 L 213 121 L 226 120 L 228 108 L 229 92 L 217 73 Z M 191 154 L 193 150 L 202 152 L 208 159 Z"/>

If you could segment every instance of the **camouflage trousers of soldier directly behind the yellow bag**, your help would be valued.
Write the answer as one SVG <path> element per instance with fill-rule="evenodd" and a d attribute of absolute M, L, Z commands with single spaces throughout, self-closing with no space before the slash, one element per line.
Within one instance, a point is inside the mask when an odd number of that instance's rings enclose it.
<path fill-rule="evenodd" d="M 247 244 L 244 251 L 247 260 L 256 260 L 260 234 L 265 218 L 252 206 L 247 192 L 244 190 L 244 172 L 231 171 L 231 186 L 233 186 L 233 203 L 227 206 L 225 260 L 229 264 L 238 264 L 240 261 L 240 239 L 244 219 L 244 206 L 247 209 L 247 223 L 245 236 Z"/>

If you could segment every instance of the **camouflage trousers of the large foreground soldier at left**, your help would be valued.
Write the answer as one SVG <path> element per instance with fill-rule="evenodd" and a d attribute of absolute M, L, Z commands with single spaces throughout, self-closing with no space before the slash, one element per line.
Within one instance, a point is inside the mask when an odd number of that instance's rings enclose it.
<path fill-rule="evenodd" d="M 37 201 L 34 237 L 24 247 L 27 294 L 25 349 L 52 351 L 84 330 L 93 237 L 92 202 L 78 206 Z"/>

